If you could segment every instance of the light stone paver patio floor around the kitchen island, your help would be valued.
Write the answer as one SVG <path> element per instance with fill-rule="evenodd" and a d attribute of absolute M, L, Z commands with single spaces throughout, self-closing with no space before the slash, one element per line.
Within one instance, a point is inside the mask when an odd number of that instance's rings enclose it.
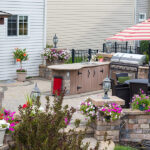
<path fill-rule="evenodd" d="M 44 107 L 46 100 L 45 96 L 50 95 L 51 90 L 51 82 L 42 78 L 31 78 L 26 82 L 17 82 L 16 80 L 8 80 L 8 81 L 0 81 L 0 90 L 4 91 L 4 100 L 2 102 L 2 106 L 6 109 L 10 109 L 12 111 L 18 112 L 18 106 L 26 103 L 25 97 L 30 95 L 32 89 L 37 83 L 40 91 L 41 91 L 41 103 Z M 77 108 L 84 99 L 89 97 L 90 95 L 102 93 L 103 91 L 96 91 L 72 96 L 65 96 L 63 105 L 68 104 L 69 107 L 73 106 Z M 53 99 L 53 96 L 50 96 Z M 76 112 L 73 115 L 70 127 L 73 126 L 73 122 L 76 118 L 81 120 L 81 128 L 86 124 L 87 120 L 85 120 L 85 116 L 83 116 L 80 112 Z M 91 130 L 89 129 L 89 132 Z M 96 145 L 96 140 L 92 137 L 85 138 L 85 142 L 90 142 L 90 147 L 94 147 Z"/>

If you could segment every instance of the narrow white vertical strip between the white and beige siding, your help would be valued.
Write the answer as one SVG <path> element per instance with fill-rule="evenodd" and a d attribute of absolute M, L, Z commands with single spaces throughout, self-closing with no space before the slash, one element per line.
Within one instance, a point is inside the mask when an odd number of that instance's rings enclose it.
<path fill-rule="evenodd" d="M 44 48 L 46 48 L 47 0 L 44 0 Z"/>

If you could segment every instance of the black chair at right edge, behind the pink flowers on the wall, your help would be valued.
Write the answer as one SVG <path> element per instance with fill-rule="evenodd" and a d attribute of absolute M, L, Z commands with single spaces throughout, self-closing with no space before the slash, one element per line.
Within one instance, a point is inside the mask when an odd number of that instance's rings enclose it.
<path fill-rule="evenodd" d="M 135 94 L 140 94 L 140 89 L 142 89 L 145 94 L 148 94 L 147 84 L 130 82 L 130 100 L 132 100 Z"/>

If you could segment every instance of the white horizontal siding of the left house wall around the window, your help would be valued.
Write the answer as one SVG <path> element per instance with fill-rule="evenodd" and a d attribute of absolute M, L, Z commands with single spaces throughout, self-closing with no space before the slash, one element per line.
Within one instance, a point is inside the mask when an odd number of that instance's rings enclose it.
<path fill-rule="evenodd" d="M 23 36 L 7 35 L 7 20 L 0 25 L 0 80 L 16 78 L 18 63 L 14 63 L 14 48 L 26 48 L 29 60 L 23 63 L 28 76 L 39 75 L 44 49 L 44 0 L 0 0 L 1 11 L 13 15 L 29 16 L 29 34 Z"/>

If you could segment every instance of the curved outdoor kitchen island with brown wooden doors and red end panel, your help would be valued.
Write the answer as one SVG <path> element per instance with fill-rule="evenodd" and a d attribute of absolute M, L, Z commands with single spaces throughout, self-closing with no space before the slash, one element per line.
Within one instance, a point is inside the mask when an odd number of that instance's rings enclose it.
<path fill-rule="evenodd" d="M 109 75 L 109 62 L 62 64 L 48 68 L 52 70 L 52 92 L 61 87 L 66 89 L 67 95 L 101 90 L 104 78 Z M 62 79 L 61 86 L 56 78 Z"/>

